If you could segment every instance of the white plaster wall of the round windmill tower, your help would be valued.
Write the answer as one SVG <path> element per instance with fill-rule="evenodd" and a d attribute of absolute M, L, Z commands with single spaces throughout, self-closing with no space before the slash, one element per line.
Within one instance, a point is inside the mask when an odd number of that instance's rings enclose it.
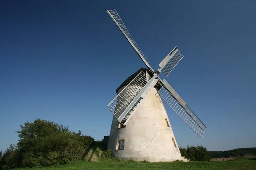
<path fill-rule="evenodd" d="M 108 149 L 113 151 L 116 159 L 150 162 L 181 160 L 166 110 L 156 94 L 157 89 L 152 88 L 124 128 L 118 128 L 119 123 L 113 116 Z M 125 140 L 124 149 L 116 150 L 117 140 L 120 139 Z"/>

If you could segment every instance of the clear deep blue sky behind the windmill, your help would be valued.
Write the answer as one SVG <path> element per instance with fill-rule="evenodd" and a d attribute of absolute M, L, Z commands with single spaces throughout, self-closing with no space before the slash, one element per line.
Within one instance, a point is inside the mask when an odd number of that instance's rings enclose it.
<path fill-rule="evenodd" d="M 156 70 L 178 46 L 167 81 L 207 125 L 196 135 L 170 108 L 179 146 L 256 144 L 256 1 L 1 1 L 0 150 L 24 122 L 47 119 L 101 140 L 116 88 L 144 63 L 106 9 L 116 9 Z"/>

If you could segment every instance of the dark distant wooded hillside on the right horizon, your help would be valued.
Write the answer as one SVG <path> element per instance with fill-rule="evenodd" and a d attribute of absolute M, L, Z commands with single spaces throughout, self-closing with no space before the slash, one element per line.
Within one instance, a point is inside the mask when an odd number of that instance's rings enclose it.
<path fill-rule="evenodd" d="M 248 154 L 256 155 L 256 147 L 238 148 L 238 149 L 225 150 L 225 151 L 209 151 L 209 153 L 211 158 L 244 156 Z"/>

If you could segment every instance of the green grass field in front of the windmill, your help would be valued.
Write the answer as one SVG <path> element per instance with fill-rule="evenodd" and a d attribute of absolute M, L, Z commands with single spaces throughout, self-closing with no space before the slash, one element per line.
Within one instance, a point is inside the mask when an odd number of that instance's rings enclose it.
<path fill-rule="evenodd" d="M 25 169 L 20 169 L 25 170 Z M 242 158 L 234 161 L 193 161 L 193 162 L 125 162 L 101 159 L 99 162 L 76 162 L 26 170 L 256 170 L 256 159 Z"/>

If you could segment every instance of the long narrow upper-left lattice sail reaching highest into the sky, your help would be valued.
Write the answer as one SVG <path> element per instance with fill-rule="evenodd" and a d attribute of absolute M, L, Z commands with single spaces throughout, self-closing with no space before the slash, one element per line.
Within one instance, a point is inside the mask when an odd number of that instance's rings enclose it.
<path fill-rule="evenodd" d="M 125 36 L 125 38 L 128 40 L 128 42 L 131 44 L 131 46 L 134 48 L 134 50 L 137 52 L 137 54 L 140 56 L 140 58 L 143 60 L 145 65 L 148 67 L 148 69 L 153 73 L 154 70 L 148 64 L 148 59 L 145 57 L 145 55 L 140 50 L 140 48 L 137 45 L 137 43 L 131 37 L 131 34 L 129 33 L 129 31 L 126 28 L 125 24 L 122 22 L 122 19 L 120 18 L 119 14 L 116 12 L 116 10 L 115 9 L 113 9 L 113 10 L 106 10 L 106 12 L 111 17 L 111 19 L 114 21 L 114 23 L 119 28 L 119 30 L 122 32 L 122 34 Z"/>

